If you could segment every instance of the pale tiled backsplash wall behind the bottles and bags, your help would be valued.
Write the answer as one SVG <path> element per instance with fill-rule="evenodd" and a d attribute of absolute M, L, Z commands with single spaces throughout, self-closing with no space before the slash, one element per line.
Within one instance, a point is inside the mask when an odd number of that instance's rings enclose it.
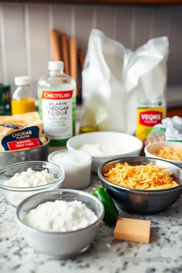
<path fill-rule="evenodd" d="M 50 1 L 51 3 L 51 1 Z M 136 49 L 152 37 L 168 35 L 168 82 L 182 84 L 182 6 L 66 5 L 0 3 L 0 81 L 28 74 L 33 86 L 52 60 L 49 31 L 76 36 L 84 51 L 90 30 Z M 34 87 L 34 94 L 36 88 Z"/>

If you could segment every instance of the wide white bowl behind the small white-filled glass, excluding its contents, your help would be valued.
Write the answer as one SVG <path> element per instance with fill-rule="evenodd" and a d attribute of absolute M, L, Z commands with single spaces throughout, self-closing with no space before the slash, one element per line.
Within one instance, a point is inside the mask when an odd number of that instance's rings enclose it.
<path fill-rule="evenodd" d="M 92 156 L 92 172 L 95 173 L 102 163 L 110 159 L 139 156 L 143 147 L 142 141 L 133 135 L 107 131 L 78 134 L 69 139 L 66 146 L 68 150 L 78 150 L 83 144 L 116 145 L 123 149 L 123 153 L 119 154 Z"/>

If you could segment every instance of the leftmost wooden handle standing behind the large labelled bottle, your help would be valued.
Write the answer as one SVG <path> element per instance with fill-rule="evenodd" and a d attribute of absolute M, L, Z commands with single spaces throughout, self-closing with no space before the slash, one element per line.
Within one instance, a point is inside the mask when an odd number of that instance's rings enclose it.
<path fill-rule="evenodd" d="M 62 61 L 61 60 L 61 49 L 60 49 L 60 40 L 58 31 L 56 29 L 52 29 L 50 31 L 50 39 L 53 50 L 53 60 L 54 61 Z"/>

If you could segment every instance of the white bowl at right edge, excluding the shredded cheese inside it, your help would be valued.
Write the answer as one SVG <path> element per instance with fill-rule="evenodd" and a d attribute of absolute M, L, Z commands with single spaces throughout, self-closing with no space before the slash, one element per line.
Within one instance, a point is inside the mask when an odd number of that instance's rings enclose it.
<path fill-rule="evenodd" d="M 161 157 L 154 156 L 152 153 L 158 152 L 163 147 L 170 147 L 171 149 L 173 149 L 173 148 L 180 148 L 180 149 L 182 149 L 182 143 L 181 142 L 173 142 L 173 141 L 172 142 L 163 141 L 163 142 L 154 142 L 154 143 L 151 143 L 151 144 L 147 145 L 145 147 L 145 149 L 144 149 L 146 157 L 154 157 L 154 158 L 161 159 Z M 182 167 L 182 161 L 168 160 L 168 159 L 165 159 L 165 160 L 167 160 L 167 161 L 169 161 L 171 163 L 175 163 L 178 166 Z"/>

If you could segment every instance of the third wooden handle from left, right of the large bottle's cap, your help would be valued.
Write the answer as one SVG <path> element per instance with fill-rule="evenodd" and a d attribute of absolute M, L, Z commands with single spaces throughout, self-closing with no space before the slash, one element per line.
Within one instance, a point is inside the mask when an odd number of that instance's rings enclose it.
<path fill-rule="evenodd" d="M 78 64 L 77 64 L 77 40 L 70 38 L 70 76 L 76 81 L 76 96 L 79 96 L 78 88 Z"/>

